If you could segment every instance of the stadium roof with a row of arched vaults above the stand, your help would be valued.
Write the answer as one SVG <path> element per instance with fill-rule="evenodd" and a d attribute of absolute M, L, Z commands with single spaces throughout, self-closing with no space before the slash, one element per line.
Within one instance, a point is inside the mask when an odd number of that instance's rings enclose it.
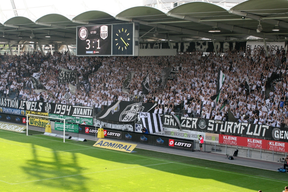
<path fill-rule="evenodd" d="M 73 18 L 47 14 L 36 21 L 12 17 L 0 24 L 0 33 L 3 33 L 0 41 L 12 44 L 76 44 L 76 26 L 121 22 L 139 22 L 142 40 L 198 41 L 205 38 L 241 41 L 254 36 L 279 41 L 288 37 L 288 1 L 248 0 L 230 9 L 196 1 L 179 5 L 168 12 L 137 6 L 116 16 L 102 11 L 88 11 Z M 262 29 L 257 32 L 259 23 Z M 153 36 L 155 30 L 158 32 L 156 37 Z"/>

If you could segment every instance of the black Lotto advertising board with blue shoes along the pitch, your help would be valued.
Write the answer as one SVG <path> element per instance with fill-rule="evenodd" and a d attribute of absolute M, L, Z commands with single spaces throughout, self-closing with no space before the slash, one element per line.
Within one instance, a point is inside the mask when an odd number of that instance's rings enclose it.
<path fill-rule="evenodd" d="M 80 125 L 81 131 L 79 133 L 81 134 L 89 134 L 89 135 L 95 135 L 95 133 L 98 132 L 98 130 L 93 127 L 84 127 Z M 80 129 L 79 129 L 80 130 Z M 193 141 L 191 140 L 183 140 L 173 137 L 166 137 L 166 136 L 159 136 L 159 135 L 151 135 L 151 134 L 141 134 L 137 132 L 128 132 L 128 131 L 122 131 L 122 130 L 111 130 L 111 129 L 104 129 L 104 134 L 106 131 L 106 136 L 108 138 L 113 138 L 117 140 L 124 140 L 124 141 L 130 141 L 130 142 L 137 142 L 137 143 L 143 143 L 148 145 L 157 145 L 161 147 L 169 147 L 174 149 L 181 149 L 181 150 L 188 150 L 193 151 Z"/>

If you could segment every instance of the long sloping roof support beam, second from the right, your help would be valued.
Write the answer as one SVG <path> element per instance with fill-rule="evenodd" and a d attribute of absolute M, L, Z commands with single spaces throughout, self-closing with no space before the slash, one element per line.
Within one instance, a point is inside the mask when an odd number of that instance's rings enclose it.
<path fill-rule="evenodd" d="M 167 13 L 166 15 L 170 16 L 170 17 L 175 17 L 175 18 L 179 18 L 179 19 L 184 19 L 187 21 L 192 21 L 195 23 L 200 23 L 200 24 L 204 24 L 204 25 L 208 25 L 211 27 L 219 27 L 221 29 L 226 29 L 232 32 L 236 32 L 236 33 L 242 33 L 242 34 L 247 34 L 247 35 L 251 35 L 251 36 L 255 36 L 255 37 L 260 37 L 260 38 L 265 38 L 264 37 L 264 33 L 260 32 L 257 33 L 254 30 L 250 30 L 250 29 L 246 29 L 246 28 L 242 28 L 242 27 L 237 27 L 237 26 L 233 26 L 230 24 L 225 24 L 225 23 L 218 23 L 218 22 L 202 22 L 200 19 L 197 18 L 193 18 L 193 17 L 185 17 L 185 16 L 180 16 L 180 15 L 176 15 L 176 14 L 170 14 Z M 277 35 L 266 35 L 267 38 L 270 39 L 277 39 Z"/>

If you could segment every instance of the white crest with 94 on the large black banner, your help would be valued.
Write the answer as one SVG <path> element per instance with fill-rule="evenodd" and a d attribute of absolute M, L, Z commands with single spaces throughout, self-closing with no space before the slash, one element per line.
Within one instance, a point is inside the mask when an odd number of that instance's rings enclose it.
<path fill-rule="evenodd" d="M 137 112 L 142 112 L 144 107 L 141 106 L 139 109 L 139 105 L 137 103 L 128 105 L 124 111 L 120 114 L 119 121 L 120 122 L 130 122 L 136 119 Z"/>

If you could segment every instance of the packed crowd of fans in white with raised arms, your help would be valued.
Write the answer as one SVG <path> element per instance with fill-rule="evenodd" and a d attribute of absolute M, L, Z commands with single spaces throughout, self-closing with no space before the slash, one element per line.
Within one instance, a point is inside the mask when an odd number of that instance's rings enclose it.
<path fill-rule="evenodd" d="M 192 52 L 157 57 L 70 57 L 68 52 L 48 52 L 43 57 L 37 51 L 24 51 L 2 60 L 0 92 L 2 96 L 17 92 L 18 99 L 23 100 L 94 106 L 97 112 L 117 100 L 139 102 L 140 98 L 158 104 L 154 113 L 228 120 L 230 110 L 239 122 L 284 127 L 288 124 L 288 55 L 284 49 L 276 52 L 282 60 L 280 68 L 273 65 L 274 56 L 272 51 L 265 55 L 263 49 L 254 50 L 252 55 L 250 50 L 240 49 L 219 55 Z M 165 67 L 173 68 L 175 76 L 162 87 L 161 70 Z M 88 79 L 91 83 L 91 92 L 86 93 L 81 86 L 72 95 L 69 83 L 58 83 L 60 68 L 77 70 L 79 82 Z M 219 68 L 225 82 L 220 101 L 215 104 L 210 97 L 216 94 Z M 130 71 L 135 75 L 127 94 L 121 88 Z M 37 94 L 31 89 L 31 76 L 41 72 L 38 80 L 48 91 Z M 153 97 L 141 96 L 141 82 L 147 74 Z M 284 80 L 271 87 L 268 94 L 265 87 L 272 74 Z M 71 83 L 76 85 L 76 80 Z M 68 100 L 63 98 L 66 92 Z"/>

